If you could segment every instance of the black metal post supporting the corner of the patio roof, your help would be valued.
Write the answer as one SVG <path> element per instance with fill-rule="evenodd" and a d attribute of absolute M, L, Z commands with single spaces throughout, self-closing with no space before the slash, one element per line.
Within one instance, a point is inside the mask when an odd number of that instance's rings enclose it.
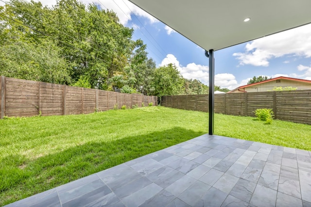
<path fill-rule="evenodd" d="M 214 50 L 210 49 L 208 52 L 205 50 L 205 55 L 209 58 L 209 84 L 208 84 L 208 134 L 214 134 Z"/>

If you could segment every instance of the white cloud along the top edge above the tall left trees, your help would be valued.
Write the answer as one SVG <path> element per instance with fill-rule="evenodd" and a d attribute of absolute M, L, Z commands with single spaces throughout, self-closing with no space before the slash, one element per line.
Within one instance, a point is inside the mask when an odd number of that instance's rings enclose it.
<path fill-rule="evenodd" d="M 30 1 L 30 0 L 26 0 Z M 52 7 L 56 5 L 56 0 L 35 0 L 41 1 L 43 6 Z M 138 6 L 134 5 L 128 0 L 81 0 L 84 4 L 88 5 L 90 3 L 95 3 L 100 6 L 102 9 L 113 10 L 117 13 L 120 23 L 126 25 L 128 21 L 132 20 L 131 14 L 135 14 L 136 16 L 145 17 L 148 19 L 149 23 L 153 24 L 158 22 L 158 20 L 148 14 L 147 12 L 140 9 Z M 4 5 L 3 2 L 0 1 L 0 5 Z"/>

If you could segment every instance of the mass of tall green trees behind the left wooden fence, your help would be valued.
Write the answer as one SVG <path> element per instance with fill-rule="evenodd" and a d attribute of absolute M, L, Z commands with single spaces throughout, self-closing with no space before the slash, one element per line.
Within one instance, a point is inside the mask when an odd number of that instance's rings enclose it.
<path fill-rule="evenodd" d="M 156 67 L 133 32 L 94 3 L 10 0 L 0 7 L 0 75 L 152 96 L 208 93 L 175 65 Z"/>

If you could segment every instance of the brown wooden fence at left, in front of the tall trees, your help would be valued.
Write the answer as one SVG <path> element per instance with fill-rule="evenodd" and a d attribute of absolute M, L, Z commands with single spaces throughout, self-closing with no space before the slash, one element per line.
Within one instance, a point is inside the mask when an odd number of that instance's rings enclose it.
<path fill-rule="evenodd" d="M 0 118 L 4 116 L 34 116 L 41 111 L 43 116 L 92 113 L 95 109 L 106 111 L 157 105 L 156 96 L 123 94 L 87 89 L 32 80 L 0 78 Z"/>

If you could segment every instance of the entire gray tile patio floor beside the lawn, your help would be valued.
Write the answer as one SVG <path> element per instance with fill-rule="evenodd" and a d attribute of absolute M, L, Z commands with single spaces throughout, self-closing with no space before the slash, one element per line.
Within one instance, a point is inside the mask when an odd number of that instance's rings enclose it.
<path fill-rule="evenodd" d="M 202 135 L 14 207 L 311 207 L 311 152 Z"/>

